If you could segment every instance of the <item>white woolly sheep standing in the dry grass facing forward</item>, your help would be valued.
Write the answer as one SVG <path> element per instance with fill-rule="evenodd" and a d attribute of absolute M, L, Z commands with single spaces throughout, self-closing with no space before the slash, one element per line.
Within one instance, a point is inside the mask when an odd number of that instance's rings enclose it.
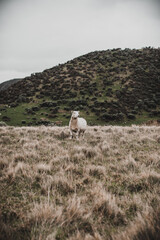
<path fill-rule="evenodd" d="M 81 133 L 84 136 L 87 122 L 84 118 L 79 118 L 79 111 L 72 111 L 71 113 L 72 115 L 69 122 L 70 139 L 73 138 L 73 133 L 76 133 L 76 139 L 78 139 Z"/>

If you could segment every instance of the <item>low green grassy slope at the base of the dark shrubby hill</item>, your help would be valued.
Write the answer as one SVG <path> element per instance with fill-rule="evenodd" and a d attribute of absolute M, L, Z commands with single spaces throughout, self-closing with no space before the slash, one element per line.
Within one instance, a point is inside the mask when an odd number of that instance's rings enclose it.
<path fill-rule="evenodd" d="M 30 104 L 29 107 L 32 106 L 37 106 L 35 104 Z M 2 112 L 0 115 L 0 121 L 3 121 L 3 116 L 7 116 L 9 117 L 11 120 L 7 121 L 7 125 L 9 126 L 27 126 L 30 122 L 33 123 L 33 125 L 36 125 L 36 121 L 33 120 L 34 118 L 36 118 L 36 120 L 40 120 L 42 118 L 49 120 L 51 123 L 56 124 L 56 122 L 61 121 L 61 125 L 62 126 L 66 126 L 69 123 L 70 120 L 70 112 L 67 112 L 64 116 L 64 113 L 58 113 L 56 114 L 57 116 L 55 118 L 48 118 L 47 116 L 45 116 L 45 114 L 49 114 L 49 110 L 48 109 L 41 109 L 37 112 L 35 112 L 35 114 L 31 114 L 26 116 L 26 112 L 25 112 L 25 108 L 27 108 L 28 105 L 27 104 L 20 104 L 18 107 L 16 108 L 7 108 L 7 110 L 5 112 Z M 41 115 L 43 114 L 43 115 Z M 143 124 L 148 122 L 149 120 L 157 120 L 159 119 L 159 117 L 149 117 L 147 112 L 142 112 L 141 115 L 137 115 L 137 118 L 134 120 L 129 120 L 127 118 L 125 118 L 124 120 L 121 121 L 104 121 L 104 120 L 100 120 L 97 119 L 96 114 L 90 112 L 89 115 L 84 112 L 83 110 L 80 111 L 80 115 L 81 117 L 84 117 L 89 125 L 119 125 L 119 126 L 130 126 L 132 124 Z M 25 120 L 26 123 L 22 123 L 22 121 Z"/>

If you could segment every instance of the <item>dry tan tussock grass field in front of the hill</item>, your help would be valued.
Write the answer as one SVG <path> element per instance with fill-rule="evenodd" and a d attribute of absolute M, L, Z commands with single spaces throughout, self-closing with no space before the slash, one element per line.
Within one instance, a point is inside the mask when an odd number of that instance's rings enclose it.
<path fill-rule="evenodd" d="M 0 127 L 0 239 L 160 235 L 160 127 Z"/>

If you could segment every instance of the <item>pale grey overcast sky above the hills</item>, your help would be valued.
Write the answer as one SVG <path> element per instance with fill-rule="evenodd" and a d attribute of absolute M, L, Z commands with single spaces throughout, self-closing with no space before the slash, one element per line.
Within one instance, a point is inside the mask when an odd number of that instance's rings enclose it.
<path fill-rule="evenodd" d="M 96 50 L 160 47 L 160 0 L 0 0 L 0 83 Z"/>

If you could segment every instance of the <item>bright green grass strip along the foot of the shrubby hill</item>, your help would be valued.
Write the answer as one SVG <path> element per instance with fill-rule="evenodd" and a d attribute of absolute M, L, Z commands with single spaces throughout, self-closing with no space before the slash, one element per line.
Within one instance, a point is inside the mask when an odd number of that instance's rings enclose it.
<path fill-rule="evenodd" d="M 65 111 L 65 106 L 61 106 L 58 113 L 55 116 L 51 116 L 48 108 L 40 108 L 38 111 L 33 114 L 27 114 L 25 109 L 28 108 L 27 103 L 19 104 L 17 107 L 10 108 L 6 107 L 5 111 L 2 111 L 5 105 L 0 105 L 0 123 L 6 122 L 8 126 L 15 127 L 24 127 L 24 126 L 37 126 L 41 124 L 37 124 L 37 121 L 41 119 L 46 120 L 50 123 L 50 125 L 57 125 L 57 122 L 60 122 L 60 126 L 66 126 L 69 124 L 69 120 L 71 117 L 71 111 Z M 29 104 L 29 108 L 36 107 L 36 104 Z M 128 119 L 125 117 L 123 120 L 110 120 L 105 121 L 96 116 L 93 112 L 86 113 L 84 110 L 80 111 L 81 117 L 84 117 L 87 120 L 89 125 L 119 125 L 119 126 L 131 126 L 132 124 L 141 125 L 145 124 L 151 120 L 158 120 L 157 116 L 149 116 L 146 111 L 141 112 L 141 114 L 136 115 L 136 119 Z M 7 117 L 8 121 L 3 120 L 3 117 Z M 25 123 L 23 123 L 25 121 Z"/>

